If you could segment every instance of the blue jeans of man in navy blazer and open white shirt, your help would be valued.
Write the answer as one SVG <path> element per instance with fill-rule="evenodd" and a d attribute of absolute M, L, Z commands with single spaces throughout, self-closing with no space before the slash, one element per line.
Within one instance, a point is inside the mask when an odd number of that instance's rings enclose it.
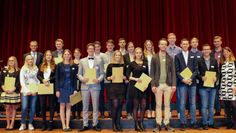
<path fill-rule="evenodd" d="M 187 124 L 185 107 L 186 107 L 186 98 L 188 94 L 189 107 L 190 107 L 190 124 L 196 123 L 196 86 L 189 85 L 180 85 L 178 88 L 179 92 L 179 113 L 180 113 L 180 123 Z"/>

